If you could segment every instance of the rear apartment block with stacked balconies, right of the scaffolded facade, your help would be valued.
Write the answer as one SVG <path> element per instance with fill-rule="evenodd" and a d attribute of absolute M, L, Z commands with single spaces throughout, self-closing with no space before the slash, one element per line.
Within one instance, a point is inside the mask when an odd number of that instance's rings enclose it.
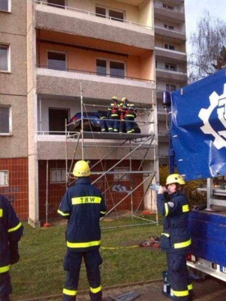
<path fill-rule="evenodd" d="M 169 135 L 162 92 L 175 91 L 187 84 L 184 0 L 155 0 L 154 19 L 159 164 L 168 164 Z"/>

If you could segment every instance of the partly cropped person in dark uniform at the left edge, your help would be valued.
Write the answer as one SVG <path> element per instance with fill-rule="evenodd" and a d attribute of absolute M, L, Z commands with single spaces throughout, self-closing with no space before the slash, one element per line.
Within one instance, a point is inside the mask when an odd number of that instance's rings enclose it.
<path fill-rule="evenodd" d="M 0 195 L 0 300 L 9 301 L 12 292 L 9 269 L 20 259 L 18 242 L 23 226 L 12 205 Z"/>

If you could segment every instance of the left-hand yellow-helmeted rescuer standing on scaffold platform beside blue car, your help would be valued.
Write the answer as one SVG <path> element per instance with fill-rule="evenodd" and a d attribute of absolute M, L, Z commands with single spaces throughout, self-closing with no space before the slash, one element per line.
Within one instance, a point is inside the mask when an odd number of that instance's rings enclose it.
<path fill-rule="evenodd" d="M 109 107 L 108 107 L 108 115 L 107 118 L 110 119 L 108 122 L 108 132 L 109 133 L 118 133 L 119 128 L 119 106 L 118 106 L 118 98 L 113 96 L 111 98 Z"/>

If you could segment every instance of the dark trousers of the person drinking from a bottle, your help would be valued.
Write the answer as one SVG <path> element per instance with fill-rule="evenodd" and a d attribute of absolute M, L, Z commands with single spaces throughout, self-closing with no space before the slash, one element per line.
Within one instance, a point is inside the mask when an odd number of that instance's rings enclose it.
<path fill-rule="evenodd" d="M 192 284 L 186 264 L 186 253 L 166 253 L 169 280 L 173 288 L 175 301 L 189 301 L 192 294 Z"/>

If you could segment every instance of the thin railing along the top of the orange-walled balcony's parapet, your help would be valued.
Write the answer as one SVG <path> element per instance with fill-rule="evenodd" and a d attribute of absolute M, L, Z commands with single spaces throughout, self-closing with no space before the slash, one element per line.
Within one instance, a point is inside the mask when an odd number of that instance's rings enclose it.
<path fill-rule="evenodd" d="M 130 76 L 117 76 L 117 75 L 112 75 L 109 73 L 99 73 L 99 72 L 94 72 L 94 71 L 88 71 L 88 70 L 78 70 L 78 69 L 67 69 L 67 68 L 49 68 L 48 66 L 44 65 L 36 65 L 37 68 L 43 68 L 43 69 L 48 69 L 48 70 L 59 70 L 59 71 L 67 71 L 67 72 L 77 72 L 77 73 L 83 73 L 83 74 L 94 74 L 94 75 L 99 75 L 102 77 L 111 77 L 111 78 L 117 78 L 117 79 L 130 79 L 130 80 L 137 80 L 141 82 L 146 82 L 146 83 L 155 83 L 154 80 L 150 79 L 141 79 L 137 77 L 130 77 Z"/>

